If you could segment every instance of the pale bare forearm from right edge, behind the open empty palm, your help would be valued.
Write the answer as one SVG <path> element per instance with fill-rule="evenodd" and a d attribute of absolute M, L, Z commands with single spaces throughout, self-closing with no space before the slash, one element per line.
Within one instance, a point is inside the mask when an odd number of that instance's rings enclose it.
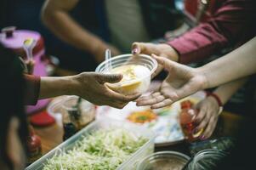
<path fill-rule="evenodd" d="M 230 54 L 197 68 L 206 78 L 203 88 L 213 88 L 225 82 L 247 77 L 256 72 L 256 37 Z"/>

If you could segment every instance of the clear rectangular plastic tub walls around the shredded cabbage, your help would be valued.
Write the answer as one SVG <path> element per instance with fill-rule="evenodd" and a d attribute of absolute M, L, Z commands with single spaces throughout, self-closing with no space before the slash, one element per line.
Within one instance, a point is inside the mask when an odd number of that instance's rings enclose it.
<path fill-rule="evenodd" d="M 139 148 L 139 150 L 134 152 L 134 154 L 130 156 L 127 161 L 122 162 L 122 164 L 117 167 L 117 170 L 135 170 L 139 161 L 145 158 L 145 156 L 151 155 L 151 153 L 153 153 L 155 134 L 150 129 L 140 127 L 128 122 L 114 121 L 112 119 L 100 119 L 92 122 L 87 127 L 82 128 L 81 131 L 76 133 L 70 139 L 65 140 L 64 143 L 58 145 L 56 148 L 54 148 L 54 150 L 51 150 L 48 152 L 48 154 L 32 163 L 29 167 L 26 167 L 26 170 L 43 169 L 43 164 L 45 164 L 49 158 L 53 157 L 55 154 L 60 153 L 61 151 L 71 150 L 74 144 L 76 144 L 79 139 L 82 139 L 82 136 L 86 136 L 88 133 L 93 133 L 95 130 L 107 127 L 122 127 L 128 129 L 135 135 L 143 136 L 149 139 L 143 146 Z"/>

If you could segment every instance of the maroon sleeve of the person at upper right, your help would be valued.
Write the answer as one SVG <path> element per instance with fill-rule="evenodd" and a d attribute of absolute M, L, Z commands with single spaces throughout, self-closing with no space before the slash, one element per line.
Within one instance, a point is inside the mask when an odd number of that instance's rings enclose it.
<path fill-rule="evenodd" d="M 255 35 L 255 0 L 227 0 L 205 23 L 168 42 L 188 64 L 213 52 L 239 46 Z"/>

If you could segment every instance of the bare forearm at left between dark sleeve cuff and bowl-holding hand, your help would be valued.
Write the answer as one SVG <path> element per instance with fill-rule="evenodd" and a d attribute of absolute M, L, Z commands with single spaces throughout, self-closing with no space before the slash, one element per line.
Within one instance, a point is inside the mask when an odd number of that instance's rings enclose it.
<path fill-rule="evenodd" d="M 39 99 L 77 95 L 77 76 L 41 77 Z"/>

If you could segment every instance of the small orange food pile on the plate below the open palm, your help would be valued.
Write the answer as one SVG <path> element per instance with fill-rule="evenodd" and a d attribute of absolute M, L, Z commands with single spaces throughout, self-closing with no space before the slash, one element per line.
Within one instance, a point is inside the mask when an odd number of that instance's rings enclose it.
<path fill-rule="evenodd" d="M 151 110 L 147 111 L 134 111 L 131 113 L 127 119 L 130 122 L 136 122 L 136 123 L 145 123 L 145 122 L 151 122 L 153 120 L 156 120 L 157 115 Z"/>

